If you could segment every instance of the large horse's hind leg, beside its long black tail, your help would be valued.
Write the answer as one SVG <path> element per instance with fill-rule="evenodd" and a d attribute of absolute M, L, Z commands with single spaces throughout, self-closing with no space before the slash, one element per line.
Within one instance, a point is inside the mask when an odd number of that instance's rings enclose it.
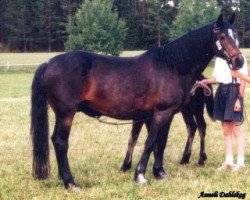
<path fill-rule="evenodd" d="M 62 178 L 64 186 L 68 189 L 77 189 L 68 162 L 68 139 L 74 114 L 65 117 L 56 116 L 56 124 L 52 135 L 59 177 Z"/>

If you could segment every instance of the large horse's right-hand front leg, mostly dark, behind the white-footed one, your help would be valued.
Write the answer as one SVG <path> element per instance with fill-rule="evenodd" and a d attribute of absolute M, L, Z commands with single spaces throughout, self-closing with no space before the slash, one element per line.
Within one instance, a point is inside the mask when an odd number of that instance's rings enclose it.
<path fill-rule="evenodd" d="M 170 118 L 158 132 L 157 141 L 154 148 L 155 162 L 153 166 L 153 174 L 157 179 L 168 178 L 168 175 L 163 168 L 163 155 L 167 145 L 168 133 L 172 120 L 173 117 Z"/>

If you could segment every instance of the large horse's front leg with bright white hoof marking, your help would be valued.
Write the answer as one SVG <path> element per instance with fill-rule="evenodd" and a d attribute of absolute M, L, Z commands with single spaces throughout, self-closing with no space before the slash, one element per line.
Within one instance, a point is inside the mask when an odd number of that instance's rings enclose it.
<path fill-rule="evenodd" d="M 144 174 L 146 172 L 149 156 L 155 147 L 156 141 L 159 137 L 159 131 L 164 126 L 164 124 L 171 119 L 172 114 L 170 115 L 169 111 L 161 111 L 154 114 L 148 137 L 145 142 L 144 151 L 135 170 L 135 181 L 138 184 L 147 183 Z"/>

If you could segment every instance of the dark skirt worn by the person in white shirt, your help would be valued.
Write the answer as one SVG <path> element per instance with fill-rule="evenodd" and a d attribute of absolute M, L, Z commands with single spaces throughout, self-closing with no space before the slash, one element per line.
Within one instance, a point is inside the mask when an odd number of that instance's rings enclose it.
<path fill-rule="evenodd" d="M 220 121 L 243 121 L 243 99 L 241 111 L 234 111 L 234 104 L 239 96 L 239 84 L 219 84 L 214 98 L 213 117 Z"/>

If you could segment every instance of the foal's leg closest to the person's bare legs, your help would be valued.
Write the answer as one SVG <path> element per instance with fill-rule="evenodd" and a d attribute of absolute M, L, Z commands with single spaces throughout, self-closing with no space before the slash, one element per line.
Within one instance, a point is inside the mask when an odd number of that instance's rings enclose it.
<path fill-rule="evenodd" d="M 195 116 L 199 134 L 200 134 L 200 158 L 198 164 L 203 166 L 207 160 L 207 154 L 205 152 L 205 136 L 206 136 L 206 127 L 204 116 L 202 114 Z"/>

